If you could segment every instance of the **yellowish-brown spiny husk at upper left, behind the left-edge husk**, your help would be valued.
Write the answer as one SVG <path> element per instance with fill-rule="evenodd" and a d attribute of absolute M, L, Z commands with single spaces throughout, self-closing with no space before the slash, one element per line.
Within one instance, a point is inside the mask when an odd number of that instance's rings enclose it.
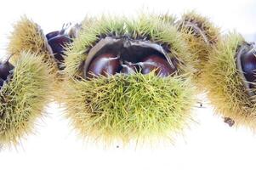
<path fill-rule="evenodd" d="M 42 64 L 47 65 L 49 73 L 51 76 L 54 76 L 53 80 L 51 80 L 54 82 L 54 92 L 56 92 L 53 94 L 53 99 L 60 101 L 61 96 L 59 90 L 63 77 L 59 74 L 54 55 L 49 52 L 43 30 L 37 23 L 28 19 L 26 16 L 23 16 L 21 20 L 14 25 L 14 31 L 9 37 L 8 53 L 13 54 L 10 59 L 13 65 L 15 65 L 17 59 L 20 58 L 20 53 L 23 51 L 30 51 L 31 53 L 43 56 Z"/>

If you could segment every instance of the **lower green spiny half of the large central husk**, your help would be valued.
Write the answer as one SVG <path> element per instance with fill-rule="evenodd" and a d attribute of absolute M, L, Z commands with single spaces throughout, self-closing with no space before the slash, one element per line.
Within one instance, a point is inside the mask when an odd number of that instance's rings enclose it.
<path fill-rule="evenodd" d="M 192 88 L 182 77 L 135 74 L 65 84 L 67 116 L 82 136 L 144 139 L 181 133 L 191 121 Z"/>

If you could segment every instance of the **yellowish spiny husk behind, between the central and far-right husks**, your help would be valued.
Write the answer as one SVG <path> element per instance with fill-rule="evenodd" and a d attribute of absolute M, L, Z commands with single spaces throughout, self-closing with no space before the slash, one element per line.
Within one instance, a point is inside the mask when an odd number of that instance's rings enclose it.
<path fill-rule="evenodd" d="M 186 22 L 198 23 L 197 26 L 201 28 L 202 33 L 207 38 L 205 39 L 197 35 L 193 29 L 187 27 Z M 208 54 L 212 50 L 214 44 L 219 41 L 220 29 L 214 26 L 213 23 L 201 14 L 197 14 L 195 11 L 190 11 L 183 14 L 181 20 L 178 22 L 179 31 L 185 37 L 186 42 L 189 45 L 190 52 L 195 62 L 191 63 L 196 72 L 194 74 L 193 80 L 196 82 L 198 88 L 202 89 L 202 69 L 208 60 Z"/>

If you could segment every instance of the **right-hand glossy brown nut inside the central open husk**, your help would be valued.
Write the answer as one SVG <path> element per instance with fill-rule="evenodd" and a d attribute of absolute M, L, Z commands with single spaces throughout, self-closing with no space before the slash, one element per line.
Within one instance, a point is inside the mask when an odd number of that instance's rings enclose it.
<path fill-rule="evenodd" d="M 149 55 L 139 62 L 142 74 L 149 74 L 151 71 L 156 71 L 159 77 L 168 77 L 175 72 L 169 65 L 166 59 L 156 54 Z"/>

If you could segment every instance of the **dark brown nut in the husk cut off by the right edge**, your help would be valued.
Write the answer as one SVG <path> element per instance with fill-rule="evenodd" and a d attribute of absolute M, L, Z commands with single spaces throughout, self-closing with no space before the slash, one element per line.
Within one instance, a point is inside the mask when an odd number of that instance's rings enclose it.
<path fill-rule="evenodd" d="M 256 51 L 249 50 L 242 54 L 241 65 L 247 82 L 256 82 Z"/>

